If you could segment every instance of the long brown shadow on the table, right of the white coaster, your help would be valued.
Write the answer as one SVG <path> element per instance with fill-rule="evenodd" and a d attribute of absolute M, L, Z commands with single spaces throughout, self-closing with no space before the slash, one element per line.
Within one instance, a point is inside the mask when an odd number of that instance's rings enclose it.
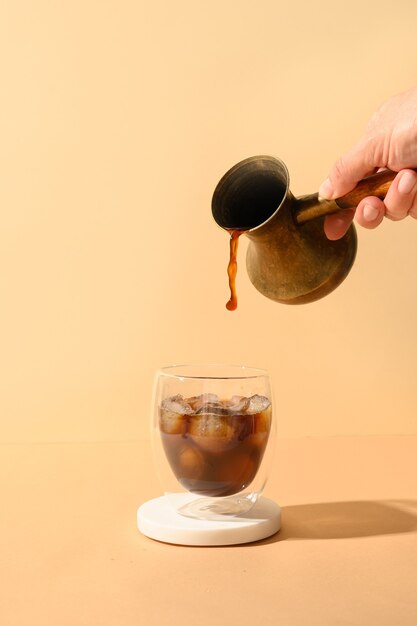
<path fill-rule="evenodd" d="M 417 532 L 417 501 L 322 502 L 282 507 L 281 530 L 259 543 Z"/>

